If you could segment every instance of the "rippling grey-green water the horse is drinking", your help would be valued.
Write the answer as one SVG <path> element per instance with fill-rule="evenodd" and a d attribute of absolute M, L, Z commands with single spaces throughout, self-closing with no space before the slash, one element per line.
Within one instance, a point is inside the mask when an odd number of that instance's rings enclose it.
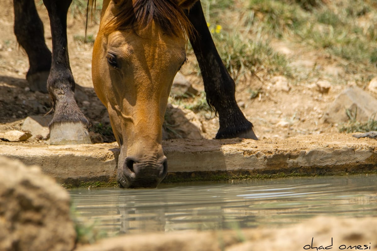
<path fill-rule="evenodd" d="M 107 234 L 280 227 L 317 215 L 377 215 L 377 175 L 71 189 L 83 222 Z"/>

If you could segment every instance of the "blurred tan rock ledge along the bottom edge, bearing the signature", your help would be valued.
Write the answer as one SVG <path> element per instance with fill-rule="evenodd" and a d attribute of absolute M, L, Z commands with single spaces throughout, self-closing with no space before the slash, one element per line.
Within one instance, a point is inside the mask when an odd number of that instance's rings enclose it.
<path fill-rule="evenodd" d="M 76 251 L 375 250 L 377 218 L 314 218 L 288 228 L 185 231 L 105 239 Z M 313 238 L 313 245 L 311 245 Z M 332 244 L 332 245 L 331 245 Z M 313 246 L 313 248 L 311 248 Z M 322 248 L 320 248 L 322 246 Z M 370 247 L 370 249 L 369 249 Z"/>

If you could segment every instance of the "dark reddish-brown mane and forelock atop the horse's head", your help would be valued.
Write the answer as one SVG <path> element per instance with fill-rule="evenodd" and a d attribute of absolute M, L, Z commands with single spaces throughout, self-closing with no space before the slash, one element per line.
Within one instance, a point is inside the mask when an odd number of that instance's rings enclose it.
<path fill-rule="evenodd" d="M 96 0 L 88 0 L 87 15 L 95 11 Z M 103 32 L 122 29 L 143 29 L 154 21 L 169 35 L 186 40 L 192 35 L 192 24 L 176 0 L 118 0 L 113 19 Z"/>

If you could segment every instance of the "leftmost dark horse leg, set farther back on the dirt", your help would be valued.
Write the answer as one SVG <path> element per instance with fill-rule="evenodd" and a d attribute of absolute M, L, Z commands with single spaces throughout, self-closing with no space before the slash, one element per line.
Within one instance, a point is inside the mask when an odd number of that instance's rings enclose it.
<path fill-rule="evenodd" d="M 14 34 L 29 58 L 26 80 L 30 90 L 47 93 L 51 52 L 44 43 L 43 23 L 34 0 L 14 0 Z"/>

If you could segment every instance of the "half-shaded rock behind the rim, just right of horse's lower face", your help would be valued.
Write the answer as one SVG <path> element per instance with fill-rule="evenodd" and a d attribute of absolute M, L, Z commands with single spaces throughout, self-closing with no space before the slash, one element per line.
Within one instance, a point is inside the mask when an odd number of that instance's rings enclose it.
<path fill-rule="evenodd" d="M 164 129 L 166 132 L 164 140 L 170 138 L 202 138 L 201 132 L 204 132 L 204 127 L 193 111 L 180 109 L 178 106 L 168 104 L 165 117 Z"/>

